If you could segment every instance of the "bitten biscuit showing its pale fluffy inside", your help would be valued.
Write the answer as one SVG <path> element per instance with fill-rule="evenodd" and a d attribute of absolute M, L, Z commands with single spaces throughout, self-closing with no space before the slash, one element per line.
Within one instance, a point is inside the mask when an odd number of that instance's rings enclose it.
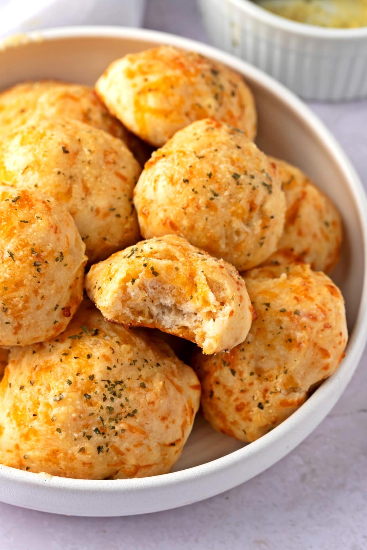
<path fill-rule="evenodd" d="M 136 243 L 91 267 L 86 291 L 107 321 L 158 328 L 204 353 L 233 348 L 253 308 L 235 268 L 176 235 Z"/>

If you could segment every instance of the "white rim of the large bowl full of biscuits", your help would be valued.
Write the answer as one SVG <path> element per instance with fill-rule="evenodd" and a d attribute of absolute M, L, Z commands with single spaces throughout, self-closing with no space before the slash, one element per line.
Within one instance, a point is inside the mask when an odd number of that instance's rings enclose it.
<path fill-rule="evenodd" d="M 214 47 L 207 46 L 204 43 L 184 38 L 166 32 L 151 31 L 146 29 L 133 29 L 132 27 L 113 27 L 113 26 L 74 26 L 74 27 L 55 27 L 53 29 L 46 29 L 40 31 L 33 31 L 24 35 L 26 41 L 39 42 L 58 40 L 68 38 L 124 38 L 139 40 L 142 43 L 155 42 L 157 45 L 162 43 L 171 44 L 174 46 L 182 47 L 185 50 L 193 50 L 199 52 L 207 57 L 211 57 L 227 64 L 234 70 L 238 70 L 239 73 L 245 77 L 249 77 L 255 80 L 259 85 L 265 86 L 267 89 L 271 89 L 273 95 L 279 98 L 283 103 L 286 103 L 288 108 L 292 111 L 296 111 L 298 116 L 303 119 L 303 123 L 307 128 L 315 131 L 316 134 L 322 140 L 324 146 L 331 153 L 332 157 L 336 159 L 339 165 L 339 169 L 345 175 L 350 190 L 352 191 L 353 198 L 355 200 L 355 207 L 358 211 L 359 224 L 361 228 L 363 238 L 363 252 L 364 252 L 364 276 L 363 276 L 363 288 L 361 293 L 361 300 L 358 310 L 358 315 L 355 320 L 353 333 L 348 342 L 348 354 L 344 359 L 338 370 L 315 391 L 313 395 L 287 420 L 282 422 L 279 426 L 274 428 L 269 433 L 262 436 L 260 439 L 254 441 L 251 444 L 245 445 L 245 447 L 236 450 L 232 453 L 222 456 L 221 458 L 212 460 L 208 463 L 193 466 L 185 470 L 176 472 L 170 472 L 169 474 L 163 474 L 153 477 L 120 479 L 120 480 L 83 480 L 76 478 L 50 476 L 44 474 L 35 474 L 33 472 L 27 472 L 24 470 L 18 470 L 10 466 L 0 465 L 0 479 L 3 482 L 12 482 L 17 485 L 26 485 L 28 487 L 37 487 L 44 485 L 47 478 L 52 480 L 52 488 L 58 489 L 62 492 L 74 493 L 75 491 L 83 493 L 95 493 L 95 492 L 136 492 L 147 491 L 149 489 L 162 488 L 168 486 L 183 485 L 188 482 L 196 482 L 198 478 L 213 477 L 219 472 L 235 471 L 238 469 L 240 463 L 244 463 L 247 459 L 252 461 L 259 460 L 263 453 L 272 447 L 273 443 L 280 440 L 284 443 L 284 449 L 282 455 L 273 460 L 271 464 L 274 464 L 278 459 L 282 458 L 294 447 L 296 447 L 305 437 L 315 429 L 319 423 L 324 420 L 325 416 L 330 412 L 333 405 L 335 405 L 337 399 L 340 397 L 343 390 L 352 378 L 355 369 L 358 366 L 359 359 L 363 353 L 365 346 L 365 334 L 364 327 L 367 326 L 367 219 L 364 213 L 367 211 L 367 197 L 363 188 L 363 184 L 355 171 L 354 167 L 348 160 L 346 153 L 344 153 L 342 147 L 338 144 L 337 140 L 333 137 L 331 132 L 326 128 L 324 123 L 314 114 L 308 106 L 303 103 L 293 92 L 289 91 L 282 84 L 278 83 L 271 76 L 265 74 L 261 70 L 253 67 L 249 63 L 242 61 L 228 53 L 217 50 Z M 6 42 L 8 39 L 5 40 Z M 14 48 L 18 47 L 13 43 L 6 45 Z M 19 47 L 24 47 L 24 42 L 19 44 Z M 1 43 L 0 43 L 1 48 Z M 1 49 L 0 49 L 0 62 L 1 62 Z M 339 381 L 342 378 L 342 382 Z M 340 389 L 339 386 L 342 386 Z M 327 403 L 327 405 L 326 405 Z M 321 415 L 310 422 L 313 410 L 318 408 L 320 404 L 324 404 Z M 326 405 L 326 406 L 325 406 Z M 308 419 L 311 423 L 311 428 L 308 427 L 306 435 L 299 436 L 295 443 L 288 444 L 289 434 L 297 433 L 298 426 Z M 265 467 L 261 467 L 260 471 L 264 471 L 271 464 L 267 464 Z M 251 476 L 252 477 L 252 476 Z M 241 481 L 239 481 L 241 482 Z M 238 483 L 237 483 L 238 484 Z M 232 487 L 235 484 L 232 483 Z M 51 487 L 50 487 L 51 488 Z M 227 487 L 228 489 L 229 487 Z M 217 494 L 221 490 L 215 491 L 213 489 L 212 494 Z M 212 496 L 207 494 L 206 497 Z M 206 498 L 198 497 L 198 499 Z M 185 502 L 186 503 L 186 502 Z M 185 504 L 182 503 L 182 504 Z M 178 504 L 181 505 L 181 504 Z"/>

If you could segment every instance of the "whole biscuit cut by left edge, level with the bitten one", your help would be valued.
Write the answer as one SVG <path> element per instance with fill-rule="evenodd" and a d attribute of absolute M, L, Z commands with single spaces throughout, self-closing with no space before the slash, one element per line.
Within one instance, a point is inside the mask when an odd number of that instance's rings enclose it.
<path fill-rule="evenodd" d="M 83 296 L 85 245 L 73 218 L 39 191 L 0 186 L 0 346 L 61 333 Z"/>

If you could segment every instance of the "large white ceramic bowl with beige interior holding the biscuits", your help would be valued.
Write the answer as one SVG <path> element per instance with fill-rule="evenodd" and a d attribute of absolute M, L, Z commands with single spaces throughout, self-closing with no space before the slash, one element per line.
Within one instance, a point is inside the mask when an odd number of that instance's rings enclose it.
<path fill-rule="evenodd" d="M 59 78 L 93 84 L 108 63 L 160 43 L 198 51 L 245 76 L 259 111 L 261 149 L 305 169 L 336 202 L 345 236 L 335 280 L 347 305 L 350 338 L 338 371 L 275 430 L 249 445 L 196 419 L 174 471 L 116 481 L 73 480 L 0 466 L 0 500 L 60 514 L 114 516 L 174 508 L 239 485 L 280 460 L 328 414 L 357 368 L 367 323 L 367 201 L 346 155 L 319 119 L 291 92 L 250 65 L 198 42 L 160 32 L 70 27 L 30 35 L 0 51 L 0 89 L 24 79 Z"/>

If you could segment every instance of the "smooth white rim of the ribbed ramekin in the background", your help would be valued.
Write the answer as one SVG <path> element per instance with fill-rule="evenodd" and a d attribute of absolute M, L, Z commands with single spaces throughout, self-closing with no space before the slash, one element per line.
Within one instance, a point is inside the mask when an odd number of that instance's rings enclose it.
<path fill-rule="evenodd" d="M 269 25 L 273 27 L 273 29 L 280 31 L 293 32 L 293 34 L 302 35 L 303 37 L 322 38 L 324 40 L 327 38 L 331 41 L 353 41 L 360 38 L 367 38 L 367 26 L 352 29 L 338 29 L 335 27 L 309 25 L 268 12 L 265 8 L 261 8 L 259 5 L 251 2 L 251 0 L 226 0 L 226 2 L 235 5 L 241 12 L 247 12 L 251 17 L 257 19 L 264 25 Z"/>

